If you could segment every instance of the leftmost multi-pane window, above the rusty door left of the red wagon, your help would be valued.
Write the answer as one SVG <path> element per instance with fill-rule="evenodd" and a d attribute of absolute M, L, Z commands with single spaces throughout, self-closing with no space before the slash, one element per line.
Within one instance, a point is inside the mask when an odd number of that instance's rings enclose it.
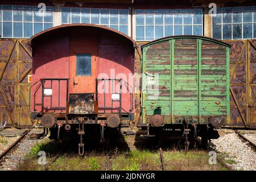
<path fill-rule="evenodd" d="M 51 28 L 53 7 L 39 11 L 37 6 L 0 5 L 0 34 L 3 38 L 30 38 Z"/>

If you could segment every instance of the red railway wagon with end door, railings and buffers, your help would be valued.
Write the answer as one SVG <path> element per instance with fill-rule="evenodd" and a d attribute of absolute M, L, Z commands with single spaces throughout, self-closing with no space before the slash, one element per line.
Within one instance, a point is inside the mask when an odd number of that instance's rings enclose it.
<path fill-rule="evenodd" d="M 31 37 L 31 118 L 41 119 L 51 137 L 61 140 L 86 125 L 128 126 L 134 119 L 133 39 L 112 28 L 65 24 Z M 107 126 L 107 127 L 105 127 Z"/>

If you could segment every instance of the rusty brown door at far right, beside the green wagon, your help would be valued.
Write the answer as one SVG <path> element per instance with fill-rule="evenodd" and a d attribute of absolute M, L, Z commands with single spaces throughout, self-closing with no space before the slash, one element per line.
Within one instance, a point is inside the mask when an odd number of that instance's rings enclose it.
<path fill-rule="evenodd" d="M 230 51 L 230 126 L 255 128 L 256 40 L 226 40 Z"/>

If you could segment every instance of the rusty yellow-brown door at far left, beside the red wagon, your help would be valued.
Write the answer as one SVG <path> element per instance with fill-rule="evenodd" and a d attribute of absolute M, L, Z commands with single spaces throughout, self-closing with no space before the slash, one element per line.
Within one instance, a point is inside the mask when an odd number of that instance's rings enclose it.
<path fill-rule="evenodd" d="M 0 39 L 0 122 L 31 127 L 28 75 L 31 49 L 26 39 Z"/>

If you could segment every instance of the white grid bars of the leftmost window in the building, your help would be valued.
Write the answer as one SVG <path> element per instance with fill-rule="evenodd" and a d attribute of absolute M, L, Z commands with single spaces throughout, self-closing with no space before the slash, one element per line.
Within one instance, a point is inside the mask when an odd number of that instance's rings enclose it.
<path fill-rule="evenodd" d="M 20 39 L 26 39 L 28 37 L 25 37 L 24 36 L 24 23 L 32 23 L 32 36 L 35 35 L 34 34 L 34 23 L 42 23 L 42 28 L 44 31 L 44 24 L 52 24 L 53 26 L 53 6 L 47 6 L 47 7 L 50 7 L 51 8 L 51 13 L 52 13 L 52 22 L 44 22 L 44 17 L 46 17 L 45 15 L 42 16 L 42 22 L 38 22 L 38 21 L 34 21 L 34 12 L 35 12 L 35 8 L 38 6 L 26 6 L 26 5 L 6 5 L 6 6 L 11 6 L 11 20 L 3 20 L 3 6 L 5 5 L 0 5 L 0 9 L 1 9 L 1 20 L 0 20 L 0 23 L 1 23 L 1 38 L 20 38 Z M 22 7 L 22 20 L 17 21 L 17 20 L 14 20 L 14 6 L 19 6 L 19 7 Z M 24 21 L 24 12 L 27 10 L 25 9 L 25 7 L 30 7 L 30 9 L 32 10 L 32 21 L 29 22 L 29 21 Z M 46 9 L 47 9 L 46 7 Z M 25 11 L 24 11 L 25 10 Z M 47 10 L 49 11 L 49 10 Z M 11 36 L 3 36 L 3 23 L 11 23 Z M 22 23 L 22 37 L 14 37 L 14 23 Z"/>

